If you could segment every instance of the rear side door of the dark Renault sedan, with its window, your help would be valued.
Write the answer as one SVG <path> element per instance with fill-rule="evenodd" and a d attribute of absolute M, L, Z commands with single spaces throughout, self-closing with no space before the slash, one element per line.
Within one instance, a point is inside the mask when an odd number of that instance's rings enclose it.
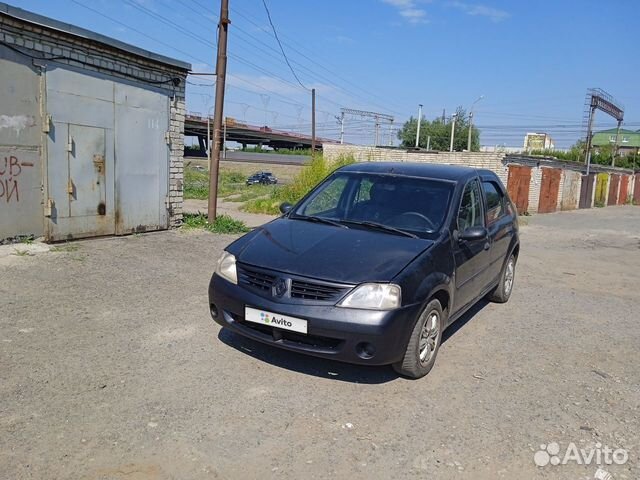
<path fill-rule="evenodd" d="M 487 231 L 491 240 L 488 283 L 493 284 L 500 276 L 509 245 L 511 245 L 511 238 L 514 235 L 513 219 L 507 214 L 504 191 L 495 180 L 483 179 L 482 191 L 487 212 Z"/>

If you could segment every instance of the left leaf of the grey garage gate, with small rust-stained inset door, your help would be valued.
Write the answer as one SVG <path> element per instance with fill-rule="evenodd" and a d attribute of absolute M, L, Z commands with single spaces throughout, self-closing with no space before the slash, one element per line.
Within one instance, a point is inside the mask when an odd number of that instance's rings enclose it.
<path fill-rule="evenodd" d="M 47 71 L 48 240 L 112 235 L 114 217 L 113 82 Z"/>

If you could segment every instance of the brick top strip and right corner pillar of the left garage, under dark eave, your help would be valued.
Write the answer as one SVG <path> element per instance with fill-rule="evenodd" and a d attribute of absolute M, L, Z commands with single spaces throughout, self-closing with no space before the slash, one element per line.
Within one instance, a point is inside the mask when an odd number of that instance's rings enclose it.
<path fill-rule="evenodd" d="M 0 14 L 0 42 L 33 57 L 34 64 L 47 62 L 99 72 L 128 84 L 160 90 L 170 98 L 169 203 L 170 225 L 182 223 L 185 84 L 187 70 L 135 55 L 90 38 L 29 23 Z M 177 85 L 173 80 L 176 80 Z M 178 82 L 179 81 L 179 82 Z"/>

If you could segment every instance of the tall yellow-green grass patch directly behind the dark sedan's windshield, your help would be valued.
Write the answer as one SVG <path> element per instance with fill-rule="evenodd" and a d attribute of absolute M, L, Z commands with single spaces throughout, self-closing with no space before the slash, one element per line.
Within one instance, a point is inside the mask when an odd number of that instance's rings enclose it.
<path fill-rule="evenodd" d="M 242 210 L 251 213 L 278 214 L 281 203 L 297 203 L 335 169 L 354 162 L 353 157 L 341 157 L 335 162 L 329 162 L 322 156 L 317 156 L 310 164 L 303 167 L 292 183 L 272 190 L 268 197 L 249 200 L 243 205 Z"/>

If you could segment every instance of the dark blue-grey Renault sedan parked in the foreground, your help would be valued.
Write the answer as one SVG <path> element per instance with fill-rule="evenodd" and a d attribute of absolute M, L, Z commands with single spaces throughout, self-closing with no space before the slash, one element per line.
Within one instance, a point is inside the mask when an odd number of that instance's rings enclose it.
<path fill-rule="evenodd" d="M 517 213 L 491 171 L 353 164 L 281 210 L 209 285 L 216 322 L 274 347 L 418 378 L 445 328 L 513 290 Z"/>

